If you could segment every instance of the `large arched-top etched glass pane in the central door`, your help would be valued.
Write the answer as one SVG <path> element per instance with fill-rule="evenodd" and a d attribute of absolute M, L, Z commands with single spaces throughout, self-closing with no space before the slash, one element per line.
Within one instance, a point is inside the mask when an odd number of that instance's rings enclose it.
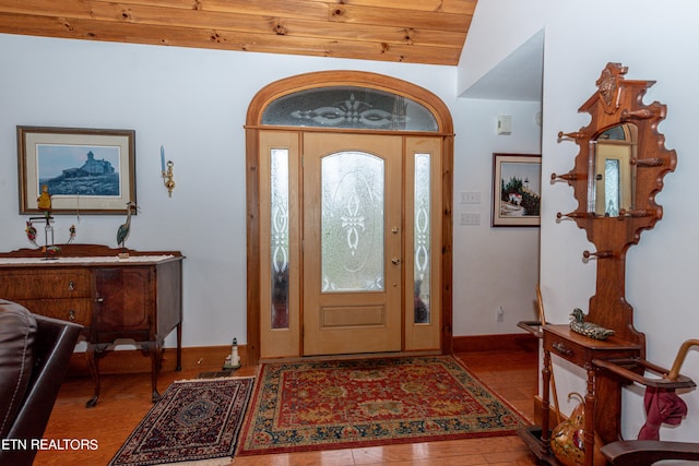
<path fill-rule="evenodd" d="M 339 152 L 321 164 L 321 289 L 382 290 L 384 162 Z"/>

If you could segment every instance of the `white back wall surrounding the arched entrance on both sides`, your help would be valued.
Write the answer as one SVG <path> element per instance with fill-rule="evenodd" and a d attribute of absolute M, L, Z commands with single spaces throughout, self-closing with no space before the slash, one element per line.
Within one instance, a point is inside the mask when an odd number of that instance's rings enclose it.
<path fill-rule="evenodd" d="M 320 70 L 370 71 L 408 80 L 437 94 L 452 111 L 458 133 L 455 189 L 478 190 L 483 196 L 477 207 L 482 225 L 454 229 L 454 242 L 463 241 L 455 248 L 461 261 L 454 267 L 455 289 L 460 290 L 454 297 L 455 334 L 514 332 L 520 308 L 531 308 L 529 285 L 507 294 L 498 285 L 498 275 L 509 268 L 498 258 L 509 248 L 500 241 L 506 238 L 509 243 L 507 238 L 513 235 L 496 231 L 490 238 L 488 225 L 491 153 L 496 147 L 538 152 L 536 141 L 518 135 L 531 126 L 532 110 L 457 99 L 455 67 L 13 35 L 0 35 L 0 250 L 29 247 L 24 236 L 26 217 L 17 214 L 16 126 L 135 130 L 141 212 L 132 220 L 127 246 L 180 250 L 187 256 L 185 346 L 225 345 L 234 335 L 246 343 L 246 111 L 264 85 Z M 469 116 L 469 106 L 481 106 L 482 115 Z M 516 133 L 497 142 L 493 119 L 501 111 L 513 115 Z M 493 144 L 482 144 L 481 133 Z M 161 179 L 161 145 L 175 163 L 173 198 L 167 196 Z M 123 215 L 58 216 L 57 241 L 67 239 L 74 223 L 79 242 L 116 247 L 116 230 L 123 219 Z M 533 230 L 524 234 L 532 239 L 535 235 Z M 520 250 L 509 249 L 510 255 Z M 535 258 L 526 259 L 534 271 L 530 277 L 535 275 Z M 525 296 L 518 296 L 520 288 Z M 494 307 L 498 304 L 506 309 L 506 322 L 495 326 Z M 166 344 L 173 343 L 170 336 Z"/>

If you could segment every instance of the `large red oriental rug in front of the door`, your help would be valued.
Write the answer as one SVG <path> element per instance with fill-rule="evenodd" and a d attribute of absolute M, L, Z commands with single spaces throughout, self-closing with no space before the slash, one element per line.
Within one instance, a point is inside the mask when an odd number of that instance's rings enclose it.
<path fill-rule="evenodd" d="M 512 435 L 526 425 L 450 356 L 269 363 L 238 455 Z"/>

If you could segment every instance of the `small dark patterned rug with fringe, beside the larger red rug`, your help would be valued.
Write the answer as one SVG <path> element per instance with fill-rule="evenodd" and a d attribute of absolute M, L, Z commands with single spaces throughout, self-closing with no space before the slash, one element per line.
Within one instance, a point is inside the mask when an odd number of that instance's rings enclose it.
<path fill-rule="evenodd" d="M 174 382 L 109 466 L 229 464 L 253 384 L 253 378 Z"/>

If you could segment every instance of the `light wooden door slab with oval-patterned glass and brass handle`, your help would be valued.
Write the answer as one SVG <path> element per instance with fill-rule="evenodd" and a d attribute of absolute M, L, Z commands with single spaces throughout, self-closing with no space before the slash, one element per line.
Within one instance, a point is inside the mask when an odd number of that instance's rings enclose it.
<path fill-rule="evenodd" d="M 304 355 L 401 349 L 402 139 L 304 138 Z"/>

